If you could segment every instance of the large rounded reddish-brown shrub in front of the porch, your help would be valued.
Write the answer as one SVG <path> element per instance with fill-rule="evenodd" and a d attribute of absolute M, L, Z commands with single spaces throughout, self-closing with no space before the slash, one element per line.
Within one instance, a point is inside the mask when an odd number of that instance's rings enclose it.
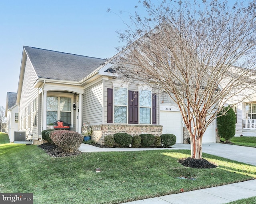
<path fill-rule="evenodd" d="M 50 137 L 55 145 L 70 153 L 78 150 L 84 139 L 82 134 L 68 130 L 53 131 Z"/>

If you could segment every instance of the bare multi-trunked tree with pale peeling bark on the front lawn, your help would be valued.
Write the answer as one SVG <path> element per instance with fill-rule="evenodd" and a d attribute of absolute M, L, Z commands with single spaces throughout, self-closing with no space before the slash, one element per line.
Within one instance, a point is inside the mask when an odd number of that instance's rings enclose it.
<path fill-rule="evenodd" d="M 178 105 L 191 157 L 201 159 L 202 137 L 224 104 L 254 89 L 256 1 L 139 2 L 148 16 L 130 16 L 132 24 L 119 32 L 126 45 L 110 63 L 123 81 L 151 86 Z"/>

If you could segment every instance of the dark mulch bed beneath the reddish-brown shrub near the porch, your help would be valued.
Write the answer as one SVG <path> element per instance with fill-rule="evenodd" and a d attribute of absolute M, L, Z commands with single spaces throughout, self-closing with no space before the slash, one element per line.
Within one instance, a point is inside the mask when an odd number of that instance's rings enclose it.
<path fill-rule="evenodd" d="M 72 153 L 65 152 L 62 149 L 60 149 L 59 147 L 57 147 L 56 145 L 49 144 L 49 143 L 44 143 L 42 145 L 39 145 L 38 147 L 40 147 L 41 149 L 46 151 L 46 153 L 52 157 L 75 156 L 75 155 L 81 154 L 81 152 L 78 150 L 74 151 Z"/>

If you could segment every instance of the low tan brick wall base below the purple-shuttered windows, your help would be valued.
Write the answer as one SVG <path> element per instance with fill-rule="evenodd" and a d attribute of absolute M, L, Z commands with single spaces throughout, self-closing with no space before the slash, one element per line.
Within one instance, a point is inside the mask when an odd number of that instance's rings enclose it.
<path fill-rule="evenodd" d="M 105 136 L 114 135 L 115 133 L 128 133 L 132 136 L 147 133 L 160 136 L 162 135 L 162 128 L 162 125 L 92 125 L 92 140 L 104 145 Z"/>

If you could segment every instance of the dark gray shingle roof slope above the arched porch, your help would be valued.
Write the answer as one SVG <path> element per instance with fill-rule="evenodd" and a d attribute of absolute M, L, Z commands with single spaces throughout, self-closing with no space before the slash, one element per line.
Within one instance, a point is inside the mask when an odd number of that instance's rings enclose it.
<path fill-rule="evenodd" d="M 105 59 L 24 46 L 39 78 L 81 81 Z"/>

